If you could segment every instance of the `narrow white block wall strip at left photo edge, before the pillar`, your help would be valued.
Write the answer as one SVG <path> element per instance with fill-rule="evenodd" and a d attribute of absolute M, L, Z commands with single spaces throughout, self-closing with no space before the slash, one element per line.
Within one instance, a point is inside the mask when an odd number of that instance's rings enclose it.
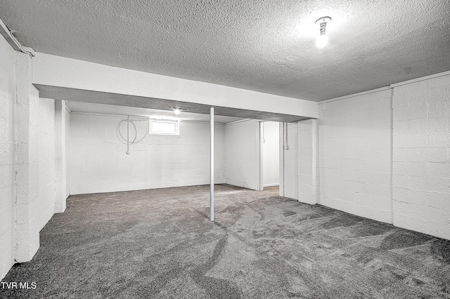
<path fill-rule="evenodd" d="M 0 36 L 0 279 L 14 263 L 13 223 L 15 51 Z"/>

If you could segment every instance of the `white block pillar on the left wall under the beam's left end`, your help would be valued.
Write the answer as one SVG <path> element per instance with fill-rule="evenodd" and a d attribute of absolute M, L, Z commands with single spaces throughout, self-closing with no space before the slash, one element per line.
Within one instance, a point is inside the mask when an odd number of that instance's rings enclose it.
<path fill-rule="evenodd" d="M 39 91 L 32 85 L 29 55 L 15 52 L 15 260 L 31 260 L 39 248 Z M 51 120 L 53 121 L 53 119 Z"/>

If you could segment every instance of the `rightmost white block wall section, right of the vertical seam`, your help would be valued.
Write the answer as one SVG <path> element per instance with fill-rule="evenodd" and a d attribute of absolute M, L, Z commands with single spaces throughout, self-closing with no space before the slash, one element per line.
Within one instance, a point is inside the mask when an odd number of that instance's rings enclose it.
<path fill-rule="evenodd" d="M 450 239 L 450 76 L 394 88 L 394 225 Z"/>

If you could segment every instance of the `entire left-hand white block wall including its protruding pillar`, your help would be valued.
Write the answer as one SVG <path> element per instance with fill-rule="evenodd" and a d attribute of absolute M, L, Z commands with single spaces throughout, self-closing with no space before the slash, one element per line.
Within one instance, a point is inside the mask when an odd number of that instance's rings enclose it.
<path fill-rule="evenodd" d="M 32 58 L 0 36 L 0 279 L 32 259 L 53 215 L 54 101 L 39 100 Z"/>

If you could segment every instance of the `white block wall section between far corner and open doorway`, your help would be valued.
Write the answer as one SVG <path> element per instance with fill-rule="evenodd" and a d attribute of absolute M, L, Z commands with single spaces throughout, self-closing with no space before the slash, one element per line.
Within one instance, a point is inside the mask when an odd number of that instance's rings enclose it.
<path fill-rule="evenodd" d="M 259 121 L 225 125 L 225 182 L 259 190 Z"/>

